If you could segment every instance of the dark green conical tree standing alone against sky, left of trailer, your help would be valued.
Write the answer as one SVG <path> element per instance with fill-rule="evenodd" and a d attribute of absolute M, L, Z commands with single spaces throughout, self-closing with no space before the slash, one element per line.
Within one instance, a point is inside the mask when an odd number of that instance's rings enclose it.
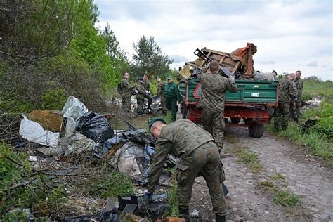
<path fill-rule="evenodd" d="M 154 37 L 143 36 L 139 39 L 138 44 L 133 43 L 133 47 L 136 51 L 131 63 L 134 76 L 138 77 L 148 73 L 151 77 L 157 75 L 162 77 L 170 70 L 172 60 L 162 53 Z"/>

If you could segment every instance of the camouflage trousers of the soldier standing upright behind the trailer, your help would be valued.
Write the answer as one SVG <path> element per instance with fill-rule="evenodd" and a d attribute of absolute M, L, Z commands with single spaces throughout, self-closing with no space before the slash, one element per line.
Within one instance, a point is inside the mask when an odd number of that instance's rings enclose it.
<path fill-rule="evenodd" d="M 223 148 L 224 130 L 226 129 L 226 123 L 224 122 L 223 112 L 214 111 L 209 109 L 202 109 L 202 126 L 205 130 L 211 133 L 213 136 L 218 150 Z"/>

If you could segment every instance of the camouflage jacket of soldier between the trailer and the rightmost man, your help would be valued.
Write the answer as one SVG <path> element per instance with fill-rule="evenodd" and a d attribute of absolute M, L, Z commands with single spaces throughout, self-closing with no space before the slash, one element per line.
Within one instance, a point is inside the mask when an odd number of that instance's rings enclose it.
<path fill-rule="evenodd" d="M 289 103 L 297 96 L 296 85 L 288 77 L 283 78 L 279 84 L 279 101 Z"/>

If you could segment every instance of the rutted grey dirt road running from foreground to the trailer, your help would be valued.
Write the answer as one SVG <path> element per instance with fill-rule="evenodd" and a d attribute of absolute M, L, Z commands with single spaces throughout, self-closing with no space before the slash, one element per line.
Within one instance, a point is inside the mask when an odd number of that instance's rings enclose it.
<path fill-rule="evenodd" d="M 227 129 L 226 150 L 249 148 L 256 152 L 263 171 L 248 169 L 236 155 L 223 158 L 228 220 L 232 221 L 333 221 L 333 172 L 320 166 L 308 155 L 307 148 L 285 141 L 271 133 L 262 138 L 249 137 L 247 128 Z M 301 204 L 285 207 L 273 200 L 273 192 L 263 190 L 260 181 L 274 174 L 281 181 L 273 181 L 280 190 L 301 195 Z M 190 211 L 199 210 L 201 218 L 211 221 L 211 201 L 203 178 L 197 178 L 192 193 Z"/>

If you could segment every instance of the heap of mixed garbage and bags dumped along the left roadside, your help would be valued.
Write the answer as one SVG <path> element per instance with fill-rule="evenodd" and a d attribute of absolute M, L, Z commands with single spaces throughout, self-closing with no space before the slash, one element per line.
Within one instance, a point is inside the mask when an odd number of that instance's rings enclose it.
<path fill-rule="evenodd" d="M 160 104 L 155 103 L 156 107 L 158 105 Z M 127 130 L 112 129 L 107 121 L 109 117 L 110 115 L 89 112 L 83 103 L 70 96 L 61 112 L 34 110 L 23 114 L 20 123 L 20 136 L 25 138 L 27 143 L 37 143 L 36 150 L 41 154 L 41 157 L 55 156 L 58 159 L 58 157 L 67 158 L 88 154 L 97 160 L 107 160 L 113 170 L 126 174 L 138 185 L 146 185 L 150 159 L 155 151 L 155 140 L 146 134 L 146 129 L 136 129 L 129 122 L 126 122 L 128 124 Z M 41 157 L 38 155 L 30 156 L 30 162 L 36 167 L 40 167 Z M 174 167 L 176 162 L 178 162 L 177 158 L 172 156 L 168 158 L 159 179 L 160 185 L 171 185 L 172 175 L 169 168 Z M 53 176 L 70 176 L 79 171 L 79 166 L 72 166 L 68 163 L 64 169 L 50 169 L 48 171 L 52 171 Z M 119 221 L 119 218 L 124 216 L 123 214 L 133 214 L 133 212 L 141 216 L 148 216 L 148 218 L 161 218 L 164 212 L 169 210 L 169 204 L 166 203 L 166 193 L 154 195 L 155 202 L 149 206 L 143 202 L 142 195 L 143 192 L 138 190 L 136 195 L 118 197 L 118 200 L 109 200 L 108 198 L 107 202 L 110 204 L 103 208 L 100 213 L 72 216 L 67 220 Z M 118 204 L 119 207 L 115 207 Z M 147 206 L 149 211 L 146 209 Z M 119 210 L 122 211 L 122 215 L 118 214 Z"/>

